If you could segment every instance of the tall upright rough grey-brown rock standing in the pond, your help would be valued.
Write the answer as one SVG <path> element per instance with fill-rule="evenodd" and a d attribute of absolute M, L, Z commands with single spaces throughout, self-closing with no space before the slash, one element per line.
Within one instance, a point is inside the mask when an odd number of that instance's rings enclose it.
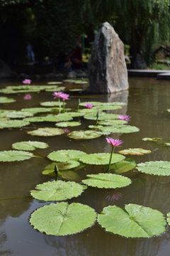
<path fill-rule="evenodd" d="M 123 42 L 108 22 L 101 26 L 91 49 L 89 80 L 94 93 L 119 92 L 129 87 Z"/>

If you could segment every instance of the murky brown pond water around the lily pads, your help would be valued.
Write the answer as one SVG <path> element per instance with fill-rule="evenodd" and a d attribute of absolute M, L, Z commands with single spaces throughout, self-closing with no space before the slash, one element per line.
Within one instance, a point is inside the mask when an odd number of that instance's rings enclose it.
<path fill-rule="evenodd" d="M 6 85 L 4 83 L 4 85 Z M 23 100 L 23 94 L 10 95 L 16 102 L 1 105 L 1 109 L 21 109 L 23 107 L 39 107 L 40 102 L 52 100 L 51 92 L 31 93 L 32 100 Z M 129 92 L 118 95 L 84 95 L 82 101 L 113 100 L 126 102 L 123 110 L 109 111 L 113 113 L 129 114 L 131 125 L 140 128 L 140 132 L 132 134 L 112 134 L 113 138 L 123 140 L 121 149 L 138 148 L 152 150 L 145 156 L 131 156 L 137 163 L 145 161 L 169 161 L 170 148 L 159 146 L 153 142 L 142 141 L 143 137 L 162 137 L 170 142 L 170 84 L 166 81 L 154 79 L 130 78 Z M 4 95 L 1 95 L 4 96 Z M 72 94 L 68 107 L 77 106 L 78 95 Z M 76 119 L 75 119 L 76 120 Z M 90 120 L 83 120 L 81 129 L 88 127 Z M 93 122 L 92 122 L 93 123 Z M 35 124 L 37 127 L 55 126 L 55 124 Z M 29 128 L 30 129 L 30 128 Z M 78 130 L 71 127 L 69 130 Z M 87 153 L 110 152 L 105 137 L 91 140 L 73 140 L 66 134 L 56 137 L 32 137 L 26 133 L 27 127 L 22 129 L 1 129 L 0 150 L 10 150 L 14 142 L 26 140 L 40 140 L 50 145 L 47 149 L 37 149 L 35 154 L 41 158 L 26 161 L 0 163 L 0 255 L 57 255 L 57 256 L 166 256 L 170 250 L 170 233 L 154 238 L 123 238 L 119 235 L 106 233 L 100 225 L 95 223 L 91 228 L 76 235 L 57 237 L 45 235 L 34 230 L 28 219 L 36 208 L 44 206 L 42 201 L 30 197 L 30 190 L 38 183 L 49 181 L 50 176 L 42 175 L 42 170 L 50 163 L 46 158 L 51 151 L 58 149 L 78 149 Z M 98 173 L 96 166 L 86 166 L 78 174 L 84 178 L 86 174 Z M 100 167 L 102 169 L 102 167 Z M 132 178 L 132 184 L 115 191 L 89 187 L 81 196 L 69 200 L 69 203 L 79 202 L 91 206 L 100 213 L 109 205 L 124 208 L 125 204 L 137 203 L 160 210 L 166 214 L 170 211 L 170 176 L 152 176 L 141 174 L 135 170 L 125 174 Z M 109 200 L 109 195 L 118 193 L 118 201 Z"/>

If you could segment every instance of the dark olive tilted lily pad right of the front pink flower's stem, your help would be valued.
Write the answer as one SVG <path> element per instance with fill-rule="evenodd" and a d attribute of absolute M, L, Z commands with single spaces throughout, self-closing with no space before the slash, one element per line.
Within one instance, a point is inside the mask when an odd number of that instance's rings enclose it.
<path fill-rule="evenodd" d="M 115 172 L 115 174 L 123 174 L 127 171 L 130 171 L 136 167 L 135 160 L 125 159 L 116 164 L 111 164 L 110 171 Z"/>

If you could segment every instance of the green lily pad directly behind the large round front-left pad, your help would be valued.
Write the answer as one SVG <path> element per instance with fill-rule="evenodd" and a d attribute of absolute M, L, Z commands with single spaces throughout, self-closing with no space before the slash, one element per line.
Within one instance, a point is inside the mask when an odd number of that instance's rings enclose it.
<path fill-rule="evenodd" d="M 86 186 L 74 181 L 48 181 L 38 184 L 36 190 L 30 191 L 33 198 L 43 201 L 64 201 L 80 196 Z"/>

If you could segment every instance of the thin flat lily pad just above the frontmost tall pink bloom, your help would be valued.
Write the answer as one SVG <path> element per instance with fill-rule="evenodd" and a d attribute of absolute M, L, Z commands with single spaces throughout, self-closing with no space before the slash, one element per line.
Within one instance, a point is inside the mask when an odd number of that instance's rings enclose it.
<path fill-rule="evenodd" d="M 99 129 L 103 132 L 110 132 L 110 133 L 131 133 L 131 132 L 140 131 L 140 129 L 135 126 L 123 125 L 123 124 L 115 125 L 113 127 L 103 127 L 101 125 L 89 125 L 89 128 Z"/>

